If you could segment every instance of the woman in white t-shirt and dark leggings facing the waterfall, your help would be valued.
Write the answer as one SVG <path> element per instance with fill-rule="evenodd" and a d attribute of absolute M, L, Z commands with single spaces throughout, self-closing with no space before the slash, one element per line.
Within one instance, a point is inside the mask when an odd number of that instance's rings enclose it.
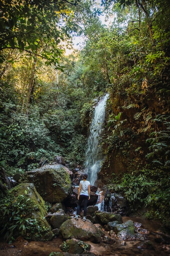
<path fill-rule="evenodd" d="M 90 182 L 87 180 L 87 173 L 84 173 L 83 175 L 83 180 L 80 181 L 79 183 L 79 190 L 78 190 L 78 204 L 77 204 L 77 214 L 75 216 L 75 219 L 78 220 L 79 218 L 79 212 L 80 212 L 80 206 L 81 203 L 83 202 L 84 204 L 84 217 L 83 217 L 83 221 L 86 221 L 86 213 L 87 213 L 87 203 L 88 200 L 90 199 L 90 193 L 91 193 L 91 189 L 90 189 Z"/>

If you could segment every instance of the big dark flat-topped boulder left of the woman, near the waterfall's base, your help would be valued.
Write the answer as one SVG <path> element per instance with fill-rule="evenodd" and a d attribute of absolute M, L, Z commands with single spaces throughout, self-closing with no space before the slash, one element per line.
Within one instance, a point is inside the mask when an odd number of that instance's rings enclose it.
<path fill-rule="evenodd" d="M 62 164 L 44 165 L 26 175 L 46 202 L 63 202 L 72 192 L 70 173 Z"/>

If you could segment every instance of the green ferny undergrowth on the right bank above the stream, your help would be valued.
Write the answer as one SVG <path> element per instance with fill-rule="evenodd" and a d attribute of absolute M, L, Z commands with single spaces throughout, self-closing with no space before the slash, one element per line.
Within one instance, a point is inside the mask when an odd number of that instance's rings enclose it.
<path fill-rule="evenodd" d="M 148 208 L 148 218 L 166 221 L 170 216 L 170 177 L 157 169 L 142 169 L 125 173 L 121 179 L 113 178 L 109 189 L 121 191 L 132 209 L 143 205 Z"/>

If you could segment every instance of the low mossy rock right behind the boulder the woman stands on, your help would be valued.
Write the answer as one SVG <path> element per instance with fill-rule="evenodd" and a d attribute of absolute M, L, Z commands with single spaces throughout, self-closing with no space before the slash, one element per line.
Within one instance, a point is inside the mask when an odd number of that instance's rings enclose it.
<path fill-rule="evenodd" d="M 99 223 L 104 225 L 108 224 L 108 222 L 112 222 L 115 220 L 117 220 L 119 223 L 123 222 L 121 215 L 117 213 L 110 213 L 106 211 L 96 211 L 95 214 L 99 220 Z"/>

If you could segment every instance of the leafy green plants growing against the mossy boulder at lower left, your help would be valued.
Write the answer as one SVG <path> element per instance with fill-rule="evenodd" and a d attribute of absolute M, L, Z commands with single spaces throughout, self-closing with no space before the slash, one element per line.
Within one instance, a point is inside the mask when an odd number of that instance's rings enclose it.
<path fill-rule="evenodd" d="M 9 242 L 17 236 L 29 239 L 29 234 L 34 234 L 37 230 L 40 236 L 38 220 L 30 218 L 32 210 L 37 209 L 36 207 L 37 205 L 28 197 L 27 190 L 23 195 L 17 194 L 17 187 L 7 192 L 0 200 L 0 234 L 4 236 L 4 240 Z"/>

